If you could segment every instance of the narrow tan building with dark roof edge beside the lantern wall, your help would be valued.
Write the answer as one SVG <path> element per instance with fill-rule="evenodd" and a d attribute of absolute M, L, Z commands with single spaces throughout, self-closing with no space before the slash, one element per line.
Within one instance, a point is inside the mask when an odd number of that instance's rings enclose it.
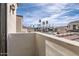
<path fill-rule="evenodd" d="M 16 16 L 16 32 L 22 32 L 22 19 L 23 16 Z"/>

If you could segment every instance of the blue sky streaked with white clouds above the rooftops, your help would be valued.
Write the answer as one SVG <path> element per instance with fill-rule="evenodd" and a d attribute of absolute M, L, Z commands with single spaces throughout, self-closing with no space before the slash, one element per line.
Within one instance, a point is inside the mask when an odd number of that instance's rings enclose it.
<path fill-rule="evenodd" d="M 53 26 L 66 26 L 79 20 L 78 3 L 23 3 L 17 8 L 17 14 L 23 16 L 23 25 L 38 24 L 38 20 L 48 20 Z"/>

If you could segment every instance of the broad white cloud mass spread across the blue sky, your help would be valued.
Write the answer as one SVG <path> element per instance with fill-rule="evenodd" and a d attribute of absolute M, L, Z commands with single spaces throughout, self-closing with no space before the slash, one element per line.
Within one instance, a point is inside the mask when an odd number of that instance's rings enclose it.
<path fill-rule="evenodd" d="M 41 18 L 42 21 L 49 21 L 49 24 L 54 24 L 55 26 L 61 26 L 61 25 L 67 25 L 68 22 L 73 21 L 73 20 L 78 20 L 78 16 L 63 16 L 63 14 L 68 13 L 72 11 L 73 9 L 78 9 L 79 7 L 75 5 L 72 6 L 70 4 L 68 6 L 67 3 L 53 3 L 53 4 L 47 4 L 47 3 L 40 3 L 40 4 L 35 4 L 37 7 L 40 7 L 40 10 L 36 10 L 34 12 L 28 13 L 26 12 L 24 18 L 24 24 L 30 23 L 30 24 L 38 24 L 38 20 Z M 66 10 L 67 9 L 67 10 Z M 48 17 L 43 17 L 44 15 L 50 13 L 51 15 Z M 62 16 L 61 16 L 62 15 Z M 28 17 L 30 16 L 30 17 Z M 60 19 L 56 19 L 57 17 L 62 17 L 63 20 L 61 21 Z"/>

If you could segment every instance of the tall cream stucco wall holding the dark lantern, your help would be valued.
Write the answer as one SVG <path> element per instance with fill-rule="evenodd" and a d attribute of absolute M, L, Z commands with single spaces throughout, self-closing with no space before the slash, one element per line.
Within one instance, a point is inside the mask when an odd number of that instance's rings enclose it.
<path fill-rule="evenodd" d="M 10 5 L 14 3 L 7 4 L 7 33 L 16 33 L 16 9 L 17 4 L 15 3 L 14 14 L 10 12 Z"/>

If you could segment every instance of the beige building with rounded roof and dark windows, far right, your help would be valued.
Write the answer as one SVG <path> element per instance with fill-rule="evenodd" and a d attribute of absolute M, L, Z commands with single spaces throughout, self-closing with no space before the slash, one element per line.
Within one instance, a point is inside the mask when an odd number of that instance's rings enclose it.
<path fill-rule="evenodd" d="M 59 33 L 66 33 L 66 32 L 78 32 L 79 31 L 79 21 L 70 22 L 67 26 L 60 26 L 56 28 L 57 32 Z"/>

